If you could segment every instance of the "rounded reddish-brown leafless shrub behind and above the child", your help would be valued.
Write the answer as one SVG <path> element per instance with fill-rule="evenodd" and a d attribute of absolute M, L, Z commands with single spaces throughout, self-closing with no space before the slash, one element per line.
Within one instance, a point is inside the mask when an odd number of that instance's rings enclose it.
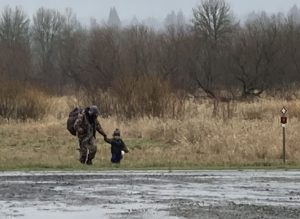
<path fill-rule="evenodd" d="M 134 117 L 177 117 L 185 102 L 172 94 L 170 83 L 157 75 L 119 78 L 114 83 L 117 114 Z"/>

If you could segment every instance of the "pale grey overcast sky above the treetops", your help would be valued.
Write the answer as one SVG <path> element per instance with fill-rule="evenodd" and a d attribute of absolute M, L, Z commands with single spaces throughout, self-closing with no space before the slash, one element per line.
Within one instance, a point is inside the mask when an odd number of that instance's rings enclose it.
<path fill-rule="evenodd" d="M 192 8 L 200 0 L 0 0 L 0 7 L 22 6 L 31 17 L 39 7 L 63 11 L 69 7 L 74 10 L 79 20 L 87 22 L 91 17 L 102 21 L 108 17 L 109 9 L 116 7 L 121 20 L 129 20 L 134 15 L 138 19 L 155 17 L 164 19 L 171 12 L 181 10 L 186 17 L 191 17 Z M 293 5 L 300 8 L 300 0 L 227 0 L 236 17 L 243 18 L 252 11 L 268 13 L 287 12 Z"/>

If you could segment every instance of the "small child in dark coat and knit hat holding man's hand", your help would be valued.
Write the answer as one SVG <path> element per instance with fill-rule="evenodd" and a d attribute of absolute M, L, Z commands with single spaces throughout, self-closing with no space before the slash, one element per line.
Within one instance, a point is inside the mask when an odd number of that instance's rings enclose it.
<path fill-rule="evenodd" d="M 125 143 L 121 139 L 121 133 L 119 129 L 116 129 L 113 133 L 113 138 L 109 139 L 104 136 L 104 141 L 111 144 L 111 162 L 120 163 L 124 153 L 128 153 L 129 150 Z"/>

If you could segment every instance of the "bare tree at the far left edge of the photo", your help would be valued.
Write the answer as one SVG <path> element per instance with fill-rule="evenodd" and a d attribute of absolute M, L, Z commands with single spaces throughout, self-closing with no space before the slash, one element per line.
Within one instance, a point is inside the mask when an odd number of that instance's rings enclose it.
<path fill-rule="evenodd" d="M 29 19 L 21 8 L 6 7 L 0 18 L 0 74 L 9 80 L 28 79 L 31 71 Z"/>

